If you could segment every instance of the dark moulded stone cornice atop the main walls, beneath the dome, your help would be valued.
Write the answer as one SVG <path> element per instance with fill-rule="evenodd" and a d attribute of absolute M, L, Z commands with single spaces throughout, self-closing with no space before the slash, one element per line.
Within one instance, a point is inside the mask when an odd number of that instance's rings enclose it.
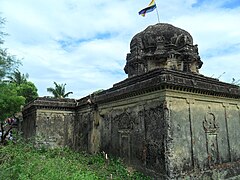
<path fill-rule="evenodd" d="M 157 69 L 115 84 L 95 96 L 95 101 L 108 102 L 160 89 L 240 99 L 240 89 L 236 85 L 199 74 Z"/>

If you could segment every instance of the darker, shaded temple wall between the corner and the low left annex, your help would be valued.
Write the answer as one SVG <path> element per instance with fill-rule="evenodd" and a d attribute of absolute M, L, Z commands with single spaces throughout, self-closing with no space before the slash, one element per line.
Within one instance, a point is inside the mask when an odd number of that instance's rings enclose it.
<path fill-rule="evenodd" d="M 88 108 L 87 108 L 88 107 Z M 79 107 L 75 149 L 105 151 L 139 168 L 165 173 L 164 93 Z"/>

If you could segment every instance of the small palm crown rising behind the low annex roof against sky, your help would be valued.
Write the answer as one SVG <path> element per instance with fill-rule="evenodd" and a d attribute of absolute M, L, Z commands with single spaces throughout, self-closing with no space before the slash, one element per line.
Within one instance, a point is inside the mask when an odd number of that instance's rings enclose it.
<path fill-rule="evenodd" d="M 50 92 L 54 95 L 55 98 L 66 98 L 69 94 L 73 94 L 73 92 L 65 93 L 65 84 L 57 84 L 54 82 L 55 88 L 49 87 L 47 88 L 47 92 Z"/>

